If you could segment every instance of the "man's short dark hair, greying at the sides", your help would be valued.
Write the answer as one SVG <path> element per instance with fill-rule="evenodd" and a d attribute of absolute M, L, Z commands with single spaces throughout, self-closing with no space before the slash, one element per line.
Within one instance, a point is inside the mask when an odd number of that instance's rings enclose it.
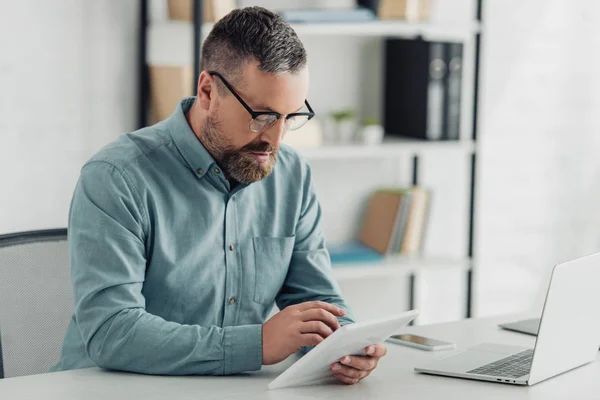
<path fill-rule="evenodd" d="M 277 75 L 306 65 L 306 50 L 292 27 L 257 6 L 233 10 L 214 25 L 202 46 L 201 70 L 240 83 L 242 68 L 253 60 L 260 71 Z"/>

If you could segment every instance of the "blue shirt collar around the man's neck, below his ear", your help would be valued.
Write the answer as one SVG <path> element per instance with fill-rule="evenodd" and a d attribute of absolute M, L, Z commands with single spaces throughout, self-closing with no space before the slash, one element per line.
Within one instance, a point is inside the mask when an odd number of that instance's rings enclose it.
<path fill-rule="evenodd" d="M 185 119 L 185 113 L 189 111 L 195 100 L 196 97 L 182 99 L 166 122 L 179 153 L 194 174 L 200 178 L 206 175 L 212 164 L 215 163 L 215 159 L 196 137 Z"/>

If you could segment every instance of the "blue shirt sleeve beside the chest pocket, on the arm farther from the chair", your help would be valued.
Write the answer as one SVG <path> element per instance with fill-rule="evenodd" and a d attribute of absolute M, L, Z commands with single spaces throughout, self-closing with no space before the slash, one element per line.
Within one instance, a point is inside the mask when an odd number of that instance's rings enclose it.
<path fill-rule="evenodd" d="M 335 304 L 346 314 L 338 317 L 341 325 L 354 322 L 352 311 L 342 298 L 331 271 L 331 259 L 321 231 L 321 206 L 315 193 L 310 167 L 306 164 L 303 200 L 296 241 L 288 274 L 276 302 L 280 310 L 305 301 L 320 300 Z"/>

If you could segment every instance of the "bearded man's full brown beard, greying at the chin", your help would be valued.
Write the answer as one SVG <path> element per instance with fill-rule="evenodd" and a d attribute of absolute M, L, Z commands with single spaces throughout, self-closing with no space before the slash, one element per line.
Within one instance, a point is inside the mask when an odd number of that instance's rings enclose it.
<path fill-rule="evenodd" d="M 271 144 L 256 140 L 235 148 L 224 138 L 219 122 L 212 116 L 206 118 L 202 133 L 204 146 L 229 178 L 248 184 L 260 181 L 273 172 L 278 149 Z M 267 161 L 259 162 L 253 152 L 269 153 Z"/>

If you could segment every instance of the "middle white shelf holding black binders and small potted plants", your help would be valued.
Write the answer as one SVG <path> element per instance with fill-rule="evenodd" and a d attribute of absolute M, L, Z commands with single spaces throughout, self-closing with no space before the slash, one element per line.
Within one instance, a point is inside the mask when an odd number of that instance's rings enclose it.
<path fill-rule="evenodd" d="M 298 153 L 310 160 L 348 158 L 394 158 L 424 152 L 459 150 L 465 154 L 475 151 L 472 140 L 425 141 L 412 139 L 387 140 L 379 145 L 340 144 L 320 147 L 296 148 Z"/>

